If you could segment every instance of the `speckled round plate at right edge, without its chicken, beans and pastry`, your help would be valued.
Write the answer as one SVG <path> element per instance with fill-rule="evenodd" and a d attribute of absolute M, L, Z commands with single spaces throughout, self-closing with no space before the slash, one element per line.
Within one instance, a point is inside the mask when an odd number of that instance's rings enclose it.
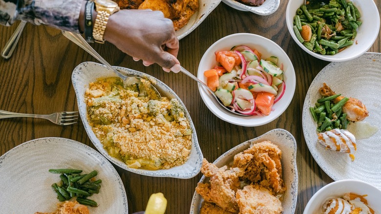
<path fill-rule="evenodd" d="M 348 153 L 326 150 L 318 143 L 317 124 L 309 107 L 315 106 L 321 97 L 318 89 L 323 83 L 336 93 L 359 99 L 369 111 L 369 116 L 364 122 L 380 126 L 381 54 L 365 53 L 352 61 L 325 66 L 308 89 L 302 116 L 303 133 L 308 149 L 325 173 L 334 180 L 362 180 L 381 189 L 380 130 L 368 139 L 357 140 L 356 159 L 353 162 Z"/>

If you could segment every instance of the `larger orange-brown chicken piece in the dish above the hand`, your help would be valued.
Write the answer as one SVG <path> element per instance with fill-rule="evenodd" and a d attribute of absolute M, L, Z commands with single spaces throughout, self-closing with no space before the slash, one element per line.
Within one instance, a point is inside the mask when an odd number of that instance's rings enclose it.
<path fill-rule="evenodd" d="M 198 0 L 144 0 L 139 9 L 160 10 L 173 21 L 175 30 L 183 27 L 198 10 Z"/>

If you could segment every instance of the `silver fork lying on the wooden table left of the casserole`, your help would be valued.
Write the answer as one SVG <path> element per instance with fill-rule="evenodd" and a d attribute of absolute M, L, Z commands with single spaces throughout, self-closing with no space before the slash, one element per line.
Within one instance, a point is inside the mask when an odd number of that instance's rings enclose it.
<path fill-rule="evenodd" d="M 61 126 L 67 126 L 77 123 L 78 111 L 61 111 L 52 114 L 23 114 L 0 110 L 0 119 L 13 117 L 42 118 Z"/>

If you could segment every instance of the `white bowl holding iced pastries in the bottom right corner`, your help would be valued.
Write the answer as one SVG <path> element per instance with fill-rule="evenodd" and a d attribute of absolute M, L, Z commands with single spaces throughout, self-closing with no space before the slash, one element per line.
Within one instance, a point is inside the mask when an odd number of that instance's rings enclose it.
<path fill-rule="evenodd" d="M 327 184 L 312 196 L 303 214 L 320 214 L 322 213 L 321 208 L 327 199 L 340 197 L 345 193 L 368 195 L 365 197 L 368 206 L 375 211 L 375 214 L 380 214 L 381 191 L 375 186 L 359 180 L 340 180 Z"/>

